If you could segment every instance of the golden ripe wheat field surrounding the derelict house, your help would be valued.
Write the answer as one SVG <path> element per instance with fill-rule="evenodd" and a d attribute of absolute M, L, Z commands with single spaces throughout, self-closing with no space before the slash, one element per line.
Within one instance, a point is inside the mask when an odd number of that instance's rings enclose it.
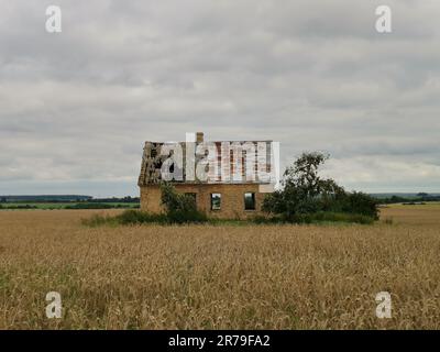
<path fill-rule="evenodd" d="M 418 207 L 374 226 L 88 228 L 103 211 L 0 211 L 0 328 L 439 329 L 440 206 Z M 53 290 L 61 319 L 45 315 Z M 391 319 L 375 315 L 384 290 Z"/>

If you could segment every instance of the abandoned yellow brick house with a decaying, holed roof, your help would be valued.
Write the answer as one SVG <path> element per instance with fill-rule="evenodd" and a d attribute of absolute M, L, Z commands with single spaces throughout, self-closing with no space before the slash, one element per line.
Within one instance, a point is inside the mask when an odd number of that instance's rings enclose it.
<path fill-rule="evenodd" d="M 201 132 L 187 134 L 186 142 L 145 142 L 141 209 L 164 210 L 160 184 L 167 180 L 178 193 L 195 197 L 197 209 L 209 217 L 257 215 L 265 194 L 273 191 L 271 146 L 271 141 L 205 142 Z"/>

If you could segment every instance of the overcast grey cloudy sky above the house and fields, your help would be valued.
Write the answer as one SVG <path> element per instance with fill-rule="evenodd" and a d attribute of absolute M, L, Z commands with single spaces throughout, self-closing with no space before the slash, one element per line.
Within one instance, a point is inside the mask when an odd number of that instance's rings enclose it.
<path fill-rule="evenodd" d="M 349 190 L 440 191 L 438 0 L 0 8 L 0 194 L 134 196 L 143 142 L 189 131 L 279 141 L 282 165 L 327 151 Z"/>

